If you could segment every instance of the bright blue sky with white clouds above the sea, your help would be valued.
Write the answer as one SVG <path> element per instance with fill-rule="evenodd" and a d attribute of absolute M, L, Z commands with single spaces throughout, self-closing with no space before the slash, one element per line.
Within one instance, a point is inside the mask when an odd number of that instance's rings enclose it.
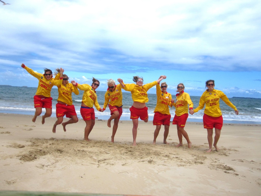
<path fill-rule="evenodd" d="M 205 81 L 228 97 L 261 98 L 261 1 L 15 1 L 0 5 L 0 83 L 37 87 L 23 70 L 62 67 L 106 90 L 107 79 L 166 75 L 201 96 Z M 155 93 L 155 88 L 149 93 Z"/>

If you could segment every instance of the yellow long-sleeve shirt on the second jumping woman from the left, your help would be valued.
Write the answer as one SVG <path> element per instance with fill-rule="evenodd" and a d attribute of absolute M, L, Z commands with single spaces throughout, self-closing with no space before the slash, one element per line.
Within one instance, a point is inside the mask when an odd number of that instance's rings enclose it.
<path fill-rule="evenodd" d="M 75 88 L 72 83 L 68 82 L 66 85 L 62 84 L 58 86 L 59 95 L 57 101 L 62 101 L 70 106 L 73 105 L 72 92 L 74 92 L 75 95 L 79 95 L 78 88 Z"/>

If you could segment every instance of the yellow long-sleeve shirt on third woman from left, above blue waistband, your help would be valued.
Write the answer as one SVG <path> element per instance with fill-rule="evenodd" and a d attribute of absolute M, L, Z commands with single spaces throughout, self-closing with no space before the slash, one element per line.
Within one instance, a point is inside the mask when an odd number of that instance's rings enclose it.
<path fill-rule="evenodd" d="M 82 103 L 84 103 L 88 107 L 96 107 L 98 111 L 101 110 L 99 103 L 97 101 L 96 91 L 89 84 L 76 84 L 76 87 L 80 90 L 84 90 L 82 95 Z"/>

